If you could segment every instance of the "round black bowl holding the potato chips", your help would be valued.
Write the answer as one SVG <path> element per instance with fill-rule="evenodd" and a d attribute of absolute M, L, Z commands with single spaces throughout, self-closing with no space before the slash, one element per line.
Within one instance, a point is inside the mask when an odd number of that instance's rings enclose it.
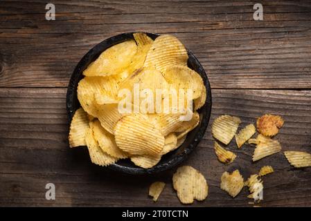
<path fill-rule="evenodd" d="M 133 37 L 134 32 L 123 33 L 121 35 L 116 35 L 114 37 L 110 37 L 109 39 L 105 39 L 104 41 L 100 42 L 91 48 L 87 54 L 82 57 L 79 61 L 78 65 L 75 67 L 73 74 L 71 75 L 71 79 L 69 82 L 67 95 L 66 95 L 66 108 L 68 113 L 69 125 L 71 119 L 73 117 L 73 113 L 80 108 L 80 103 L 77 97 L 77 86 L 80 79 L 83 78 L 82 72 L 91 64 L 92 61 L 96 60 L 97 57 L 100 55 L 101 52 L 106 50 L 107 48 L 114 46 L 118 43 L 123 41 L 127 41 L 129 39 L 134 39 Z M 152 34 L 152 33 L 145 33 L 152 39 L 156 39 L 159 35 Z M 150 169 L 142 169 L 138 166 L 135 166 L 130 160 L 119 160 L 115 164 L 109 165 L 110 169 L 115 171 L 121 171 L 123 173 L 129 174 L 145 174 L 145 173 L 157 173 L 160 171 L 165 171 L 171 169 L 173 166 L 180 164 L 182 161 L 186 159 L 186 157 L 193 151 L 193 149 L 199 144 L 199 141 L 204 136 L 206 128 L 208 126 L 208 122 L 211 116 L 211 106 L 212 106 L 212 95 L 211 95 L 211 86 L 209 84 L 208 78 L 206 73 L 199 61 L 193 55 L 193 53 L 188 50 L 188 67 L 195 70 L 199 75 L 201 75 L 205 87 L 206 87 L 206 102 L 202 108 L 198 110 L 200 122 L 199 125 L 193 130 L 188 133 L 184 144 L 182 144 L 179 148 L 175 151 L 167 153 L 163 155 L 161 161 Z"/>

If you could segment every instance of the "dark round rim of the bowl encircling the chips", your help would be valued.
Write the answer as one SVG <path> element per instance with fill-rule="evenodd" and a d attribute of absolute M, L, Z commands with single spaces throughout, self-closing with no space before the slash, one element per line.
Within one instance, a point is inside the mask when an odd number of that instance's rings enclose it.
<path fill-rule="evenodd" d="M 66 111 L 67 111 L 67 117 L 68 117 L 68 122 L 69 122 L 69 124 L 68 124 L 69 129 L 70 129 L 70 124 L 71 124 L 73 114 L 76 111 L 76 110 L 73 110 L 75 108 L 73 106 L 73 102 L 78 101 L 78 97 L 76 96 L 76 93 L 74 93 L 74 92 L 76 92 L 76 87 L 78 86 L 78 82 L 83 77 L 83 75 L 82 75 L 83 70 L 85 70 L 85 68 L 87 66 L 89 66 L 89 64 L 87 64 L 87 63 L 94 61 L 98 57 L 98 56 L 97 57 L 95 56 L 96 53 L 98 54 L 98 50 L 100 50 L 100 53 L 101 53 L 101 52 L 107 50 L 107 48 L 110 48 L 116 44 L 123 42 L 123 41 L 127 41 L 129 39 L 134 39 L 134 37 L 133 37 L 134 33 L 136 33 L 136 32 L 125 32 L 125 33 L 121 33 L 119 35 L 115 35 L 113 37 L 109 37 L 109 38 L 101 41 L 99 44 L 96 44 L 93 48 L 91 48 L 82 57 L 82 59 L 80 59 L 78 64 L 75 66 L 75 69 L 73 70 L 73 73 L 71 74 L 71 78 L 70 78 L 69 85 L 67 88 L 67 93 L 66 93 Z M 143 33 L 145 33 L 149 37 L 152 37 L 152 39 L 155 39 L 155 38 L 160 36 L 159 34 L 150 33 L 150 32 L 143 32 Z M 206 88 L 206 102 L 205 102 L 204 106 L 202 106 L 202 108 L 199 108 L 200 118 L 201 118 L 201 115 L 203 117 L 202 117 L 202 119 L 200 119 L 200 123 L 198 125 L 199 130 L 194 135 L 190 144 L 188 144 L 184 148 L 184 151 L 179 153 L 179 155 L 172 157 L 172 159 L 168 160 L 168 162 L 163 162 L 161 164 L 161 161 L 160 161 L 159 164 L 153 166 L 150 169 L 123 166 L 123 165 L 116 164 L 116 163 L 110 164 L 109 166 L 107 166 L 108 169 L 112 169 L 114 171 L 120 171 L 122 173 L 127 173 L 127 174 L 131 174 L 131 175 L 152 174 L 152 173 L 159 173 L 161 171 L 166 171 L 168 169 L 172 169 L 173 167 L 177 166 L 177 164 L 180 164 L 181 162 L 183 162 L 186 159 L 186 157 L 188 157 L 188 155 L 195 149 L 195 147 L 197 147 L 199 142 L 202 140 L 202 137 L 204 136 L 204 133 L 205 133 L 206 128 L 208 126 L 208 122 L 209 122 L 210 117 L 211 117 L 211 106 L 212 106 L 211 85 L 210 85 L 210 82 L 208 81 L 208 77 L 206 75 L 206 72 L 205 72 L 202 64 L 199 63 L 199 60 L 197 59 L 197 57 L 195 57 L 193 52 L 191 52 L 187 48 L 186 48 L 186 50 L 188 52 L 188 61 L 189 61 L 189 59 L 191 59 L 194 62 L 195 66 L 197 66 L 197 68 L 199 68 L 198 73 L 202 77 L 202 79 L 204 81 L 204 86 Z M 78 104 L 80 105 L 80 102 L 78 102 Z M 177 148 L 177 150 L 179 148 Z"/>

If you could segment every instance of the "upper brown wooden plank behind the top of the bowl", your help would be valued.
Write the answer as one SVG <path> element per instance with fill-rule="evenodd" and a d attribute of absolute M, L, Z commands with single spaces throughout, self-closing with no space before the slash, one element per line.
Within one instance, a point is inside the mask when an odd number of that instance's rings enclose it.
<path fill-rule="evenodd" d="M 310 1 L 1 1 L 0 86 L 66 87 L 75 65 L 121 32 L 171 33 L 201 61 L 212 88 L 311 88 Z"/>

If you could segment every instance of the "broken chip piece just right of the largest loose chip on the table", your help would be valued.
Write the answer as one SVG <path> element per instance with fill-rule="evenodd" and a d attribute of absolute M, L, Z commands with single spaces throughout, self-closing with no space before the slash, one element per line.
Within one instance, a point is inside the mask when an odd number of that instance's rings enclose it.
<path fill-rule="evenodd" d="M 231 174 L 228 172 L 222 173 L 221 181 L 220 188 L 233 198 L 240 193 L 244 186 L 244 179 L 238 170 L 233 171 Z"/>

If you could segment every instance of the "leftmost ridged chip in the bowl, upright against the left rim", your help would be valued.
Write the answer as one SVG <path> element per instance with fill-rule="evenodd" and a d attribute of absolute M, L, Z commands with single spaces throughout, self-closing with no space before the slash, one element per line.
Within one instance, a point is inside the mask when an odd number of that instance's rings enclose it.
<path fill-rule="evenodd" d="M 87 113 L 79 108 L 75 111 L 70 124 L 69 131 L 69 146 L 85 146 L 85 132 L 89 129 L 89 120 L 87 118 Z"/>

